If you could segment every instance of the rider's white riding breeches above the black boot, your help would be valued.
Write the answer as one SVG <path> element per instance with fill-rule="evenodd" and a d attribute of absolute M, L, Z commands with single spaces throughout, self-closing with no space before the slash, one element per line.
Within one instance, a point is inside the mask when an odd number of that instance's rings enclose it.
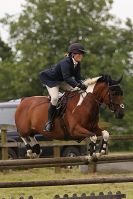
<path fill-rule="evenodd" d="M 58 103 L 58 99 L 59 99 L 59 88 L 61 88 L 64 91 L 70 91 L 72 89 L 72 87 L 67 84 L 66 82 L 61 82 L 60 85 L 57 85 L 55 87 L 48 87 L 46 86 L 48 93 L 51 97 L 51 104 L 56 106 Z"/>

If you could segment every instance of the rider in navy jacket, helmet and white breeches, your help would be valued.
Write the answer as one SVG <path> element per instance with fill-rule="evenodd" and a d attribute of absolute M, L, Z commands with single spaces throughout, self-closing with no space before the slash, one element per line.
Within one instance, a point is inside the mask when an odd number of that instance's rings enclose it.
<path fill-rule="evenodd" d="M 78 87 L 85 91 L 86 86 L 80 76 L 80 62 L 85 54 L 85 49 L 80 43 L 72 43 L 68 48 L 68 55 L 50 69 L 40 72 L 40 80 L 46 86 L 51 97 L 48 108 L 48 122 L 44 131 L 51 132 L 59 99 L 59 88 L 70 90 Z"/>

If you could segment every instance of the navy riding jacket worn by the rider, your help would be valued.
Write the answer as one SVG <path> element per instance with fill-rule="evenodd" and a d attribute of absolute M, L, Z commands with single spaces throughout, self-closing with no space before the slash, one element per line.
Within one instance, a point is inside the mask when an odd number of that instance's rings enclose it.
<path fill-rule="evenodd" d="M 76 87 L 81 83 L 80 63 L 74 67 L 72 58 L 65 57 L 53 67 L 40 72 L 39 77 L 41 82 L 48 87 L 55 87 L 62 81 Z"/>

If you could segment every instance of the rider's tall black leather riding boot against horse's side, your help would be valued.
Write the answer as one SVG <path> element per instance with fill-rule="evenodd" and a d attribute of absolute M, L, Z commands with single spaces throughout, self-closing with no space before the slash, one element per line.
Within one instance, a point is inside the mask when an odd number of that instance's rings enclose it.
<path fill-rule="evenodd" d="M 44 131 L 51 132 L 53 130 L 53 121 L 56 114 L 56 106 L 50 104 L 48 109 L 48 122 L 46 123 Z"/>

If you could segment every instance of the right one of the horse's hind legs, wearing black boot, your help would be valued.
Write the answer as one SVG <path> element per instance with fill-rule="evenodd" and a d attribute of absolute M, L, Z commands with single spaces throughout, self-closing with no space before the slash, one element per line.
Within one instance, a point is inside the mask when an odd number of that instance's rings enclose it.
<path fill-rule="evenodd" d="M 40 154 L 41 154 L 40 145 L 37 142 L 35 136 L 34 137 L 29 137 L 29 138 L 30 138 L 30 141 L 31 141 L 31 144 L 32 144 L 33 156 L 34 156 L 34 158 L 38 158 L 40 156 Z"/>

